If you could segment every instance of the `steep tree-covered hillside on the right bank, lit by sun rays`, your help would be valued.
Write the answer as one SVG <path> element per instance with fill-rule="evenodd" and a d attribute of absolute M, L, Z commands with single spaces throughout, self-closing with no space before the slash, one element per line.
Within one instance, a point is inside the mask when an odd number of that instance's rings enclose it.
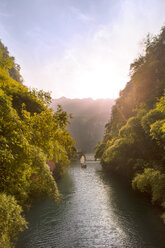
<path fill-rule="evenodd" d="M 96 157 L 165 208 L 165 27 L 131 64 Z"/>

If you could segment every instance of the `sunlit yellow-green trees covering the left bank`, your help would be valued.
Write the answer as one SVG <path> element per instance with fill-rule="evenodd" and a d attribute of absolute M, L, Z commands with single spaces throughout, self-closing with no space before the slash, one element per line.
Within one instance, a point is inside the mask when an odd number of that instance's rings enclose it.
<path fill-rule="evenodd" d="M 69 115 L 60 106 L 53 113 L 48 108 L 50 94 L 29 90 L 20 80 L 14 80 L 11 68 L 16 68 L 14 59 L 0 43 L 0 211 L 6 208 L 9 213 L 7 217 L 5 212 L 0 213 L 1 218 L 7 218 L 6 222 L 0 220 L 5 228 L 0 234 L 6 242 L 3 247 L 10 247 L 17 233 L 23 230 L 25 222 L 20 206 L 28 207 L 33 199 L 45 195 L 55 201 L 60 199 L 47 162 L 53 161 L 54 175 L 58 178 L 76 151 L 74 140 L 66 130 Z"/>

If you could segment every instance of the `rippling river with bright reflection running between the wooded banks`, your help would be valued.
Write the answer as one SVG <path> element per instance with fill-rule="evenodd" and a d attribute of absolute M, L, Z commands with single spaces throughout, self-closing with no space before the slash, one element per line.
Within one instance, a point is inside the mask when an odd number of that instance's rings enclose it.
<path fill-rule="evenodd" d="M 59 204 L 36 202 L 27 214 L 29 229 L 17 248 L 164 248 L 165 225 L 158 209 L 99 162 L 81 169 L 73 162 L 59 189 Z"/>

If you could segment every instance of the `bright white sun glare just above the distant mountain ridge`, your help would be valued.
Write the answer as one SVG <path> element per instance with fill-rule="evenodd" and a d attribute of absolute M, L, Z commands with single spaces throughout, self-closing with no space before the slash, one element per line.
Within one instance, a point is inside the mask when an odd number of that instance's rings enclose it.
<path fill-rule="evenodd" d="M 117 98 L 128 80 L 110 65 L 98 65 L 91 71 L 82 71 L 77 78 L 77 95 L 80 98 Z"/>

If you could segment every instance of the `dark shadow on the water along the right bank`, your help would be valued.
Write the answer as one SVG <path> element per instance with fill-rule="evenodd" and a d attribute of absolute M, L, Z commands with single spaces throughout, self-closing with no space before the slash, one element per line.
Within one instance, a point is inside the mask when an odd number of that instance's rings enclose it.
<path fill-rule="evenodd" d="M 132 247 L 165 247 L 165 226 L 160 219 L 161 210 L 134 192 L 117 175 L 99 172 L 99 177 L 108 187 L 107 194 L 115 222 Z"/>

